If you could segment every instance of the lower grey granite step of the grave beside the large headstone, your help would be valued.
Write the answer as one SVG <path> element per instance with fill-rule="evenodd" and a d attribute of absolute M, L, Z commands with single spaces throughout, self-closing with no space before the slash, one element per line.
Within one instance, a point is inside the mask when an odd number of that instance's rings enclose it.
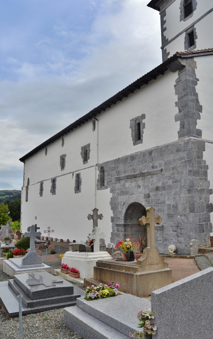
<path fill-rule="evenodd" d="M 66 307 L 63 312 L 64 324 L 84 339 L 129 339 L 129 335 L 125 336 L 111 326 L 86 313 L 80 307 Z"/>

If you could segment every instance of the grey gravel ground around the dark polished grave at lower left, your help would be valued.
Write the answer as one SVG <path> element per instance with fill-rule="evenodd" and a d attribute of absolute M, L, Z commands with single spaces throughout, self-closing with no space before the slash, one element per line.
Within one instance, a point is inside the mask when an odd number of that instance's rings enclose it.
<path fill-rule="evenodd" d="M 57 268 L 60 268 L 61 261 L 47 261 L 51 266 L 52 274 Z M 6 281 L 11 277 L 2 272 L 3 265 L 0 265 L 0 281 Z M 85 286 L 75 283 L 85 291 Z M 18 339 L 19 338 L 19 318 L 8 319 L 0 307 L 0 339 Z M 51 339 L 83 339 L 76 332 L 70 330 L 63 323 L 63 308 L 59 310 L 45 311 L 35 314 L 22 316 L 23 339 L 51 338 Z"/>

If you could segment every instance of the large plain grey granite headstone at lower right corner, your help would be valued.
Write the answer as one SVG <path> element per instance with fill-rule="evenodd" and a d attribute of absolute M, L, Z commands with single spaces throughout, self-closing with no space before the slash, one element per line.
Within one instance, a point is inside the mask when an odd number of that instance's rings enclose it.
<path fill-rule="evenodd" d="M 212 339 L 213 267 L 151 294 L 155 339 Z"/>

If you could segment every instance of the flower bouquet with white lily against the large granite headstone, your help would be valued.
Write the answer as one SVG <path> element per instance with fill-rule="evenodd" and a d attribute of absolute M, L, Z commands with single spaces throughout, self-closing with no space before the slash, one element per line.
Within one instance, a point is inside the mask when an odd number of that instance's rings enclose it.
<path fill-rule="evenodd" d="M 138 312 L 139 326 L 143 328 L 143 332 L 130 333 L 130 338 L 146 338 L 151 339 L 152 335 L 156 334 L 157 327 L 153 326 L 154 312 L 150 308 L 140 310 Z"/>

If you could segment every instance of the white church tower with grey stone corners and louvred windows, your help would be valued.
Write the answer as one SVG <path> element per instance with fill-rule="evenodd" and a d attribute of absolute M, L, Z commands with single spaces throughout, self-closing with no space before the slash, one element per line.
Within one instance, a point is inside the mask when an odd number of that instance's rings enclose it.
<path fill-rule="evenodd" d="M 160 13 L 162 61 L 176 52 L 213 47 L 212 0 L 151 0 Z"/>

